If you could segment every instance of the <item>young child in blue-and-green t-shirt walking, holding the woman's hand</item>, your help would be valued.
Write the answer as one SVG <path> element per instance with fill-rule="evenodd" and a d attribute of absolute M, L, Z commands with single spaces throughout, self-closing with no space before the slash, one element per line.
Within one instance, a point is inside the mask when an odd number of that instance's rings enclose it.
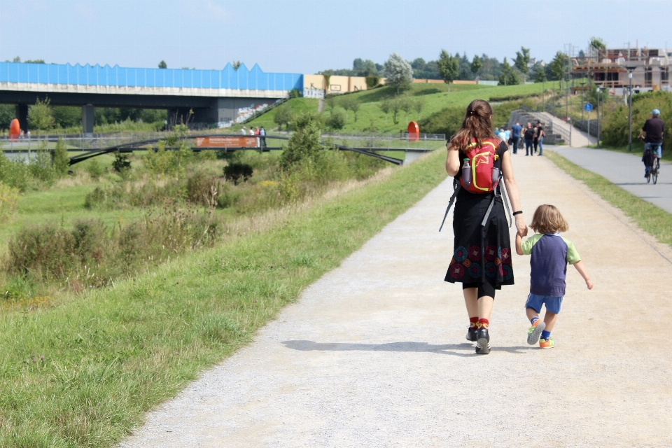
<path fill-rule="evenodd" d="M 586 281 L 588 289 L 593 288 L 593 282 L 574 244 L 560 236 L 560 232 L 569 230 L 569 225 L 558 209 L 552 205 L 540 205 L 534 212 L 530 227 L 536 232 L 532 237 L 522 241 L 520 234 L 516 235 L 518 255 L 532 255 L 530 295 L 525 303 L 527 318 L 532 323 L 527 343 L 534 345 L 539 341 L 540 349 L 552 349 L 555 342 L 551 330 L 558 319 L 562 297 L 565 295 L 567 263 L 574 265 Z M 543 322 L 539 320 L 542 304 L 546 305 Z"/>

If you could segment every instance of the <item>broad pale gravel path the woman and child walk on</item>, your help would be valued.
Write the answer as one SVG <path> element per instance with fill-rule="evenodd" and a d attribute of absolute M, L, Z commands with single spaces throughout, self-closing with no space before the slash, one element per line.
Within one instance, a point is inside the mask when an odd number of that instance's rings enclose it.
<path fill-rule="evenodd" d="M 668 248 L 545 158 L 514 158 L 526 219 L 555 204 L 568 268 L 558 346 L 526 344 L 528 259 L 496 297 L 489 356 L 444 283 L 444 182 L 304 291 L 255 341 L 148 414 L 123 447 L 669 447 Z"/>

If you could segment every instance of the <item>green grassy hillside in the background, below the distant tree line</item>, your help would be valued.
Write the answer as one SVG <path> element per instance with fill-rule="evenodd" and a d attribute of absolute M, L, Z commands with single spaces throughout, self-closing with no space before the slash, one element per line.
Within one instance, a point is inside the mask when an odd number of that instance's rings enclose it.
<path fill-rule="evenodd" d="M 449 91 L 450 88 L 450 91 Z M 415 111 L 408 113 L 408 120 L 422 120 L 435 113 L 451 106 L 467 106 L 472 100 L 480 98 L 489 100 L 491 97 L 508 97 L 512 95 L 526 95 L 541 93 L 542 84 L 526 85 L 508 85 L 492 87 L 488 85 L 447 85 L 447 84 L 414 84 L 411 90 L 404 92 L 400 96 L 420 99 L 423 102 L 423 108 L 420 114 Z M 337 97 L 337 103 L 346 95 Z M 387 98 L 395 97 L 395 91 L 391 87 L 379 87 L 373 90 L 365 90 L 347 94 L 347 97 L 353 97 L 360 102 L 360 109 L 357 112 L 357 121 L 354 119 L 352 111 L 347 113 L 348 120 L 340 132 L 399 132 L 405 130 L 407 126 L 406 113 L 398 113 L 398 123 L 393 123 L 392 113 L 386 116 L 380 109 L 381 101 Z M 295 112 L 317 111 L 318 100 L 311 98 L 295 98 L 287 102 L 288 106 Z M 336 109 L 343 109 L 336 106 Z M 264 126 L 267 130 L 276 129 L 274 123 L 275 110 L 269 111 L 256 118 L 248 127 Z M 326 116 L 329 116 L 330 110 L 325 105 Z M 240 126 L 233 128 L 238 130 Z M 421 129 L 422 132 L 422 129 Z"/>

